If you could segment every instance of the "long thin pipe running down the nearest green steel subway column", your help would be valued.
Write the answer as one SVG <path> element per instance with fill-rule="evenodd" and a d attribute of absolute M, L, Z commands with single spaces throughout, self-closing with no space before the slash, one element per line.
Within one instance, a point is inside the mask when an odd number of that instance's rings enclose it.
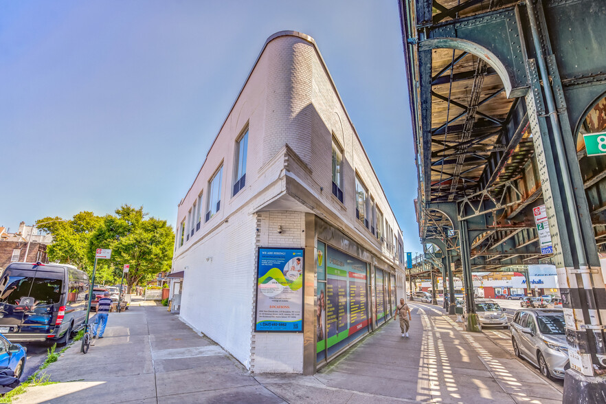
<path fill-rule="evenodd" d="M 528 8 L 528 20 L 530 21 L 532 42 L 535 43 L 535 52 L 537 53 L 537 63 L 539 65 L 539 71 L 541 72 L 541 78 L 543 79 L 543 89 L 545 89 L 545 101 L 547 104 L 549 120 L 551 122 L 551 126 L 554 133 L 553 139 L 555 142 L 556 150 L 558 152 L 558 162 L 562 170 L 562 181 L 565 189 L 565 197 L 570 207 L 576 207 L 576 201 L 574 200 L 574 190 L 572 188 L 572 181 L 570 180 L 570 172 L 568 170 L 568 162 L 564 158 L 565 151 L 562 140 L 563 136 L 560 130 L 557 110 L 555 108 L 555 102 L 549 81 L 549 74 L 547 71 L 547 66 L 545 64 L 545 58 L 543 58 L 543 52 L 541 50 L 537 18 L 535 16 L 535 5 L 532 4 L 532 1 L 533 0 L 526 1 L 526 8 Z M 574 238 L 574 247 L 576 248 L 576 256 L 577 258 L 579 258 L 579 268 L 587 269 L 587 256 L 585 255 L 585 249 L 583 249 L 583 243 L 581 240 L 581 225 L 579 223 L 579 216 L 576 214 L 576 212 L 570 215 L 570 224 L 570 227 L 572 227 L 572 237 Z M 587 273 L 584 273 L 583 275 L 587 276 L 587 278 L 589 279 Z M 583 284 L 585 284 L 584 277 Z"/>

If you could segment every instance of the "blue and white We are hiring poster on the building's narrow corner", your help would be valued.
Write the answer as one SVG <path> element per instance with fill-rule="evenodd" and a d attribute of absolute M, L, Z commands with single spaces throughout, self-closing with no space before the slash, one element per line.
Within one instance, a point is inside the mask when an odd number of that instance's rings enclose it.
<path fill-rule="evenodd" d="M 259 248 L 255 331 L 303 331 L 303 249 Z"/>

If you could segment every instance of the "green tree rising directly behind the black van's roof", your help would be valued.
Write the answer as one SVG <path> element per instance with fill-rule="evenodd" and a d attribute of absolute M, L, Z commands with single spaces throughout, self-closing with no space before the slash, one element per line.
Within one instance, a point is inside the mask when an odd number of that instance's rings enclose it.
<path fill-rule="evenodd" d="M 53 243 L 48 246 L 49 261 L 65 262 L 92 275 L 93 262 L 90 260 L 89 239 L 103 218 L 93 212 L 80 212 L 71 219 L 59 216 L 45 217 L 36 221 L 36 227 L 52 234 Z M 43 223 L 37 225 L 38 223 Z"/>

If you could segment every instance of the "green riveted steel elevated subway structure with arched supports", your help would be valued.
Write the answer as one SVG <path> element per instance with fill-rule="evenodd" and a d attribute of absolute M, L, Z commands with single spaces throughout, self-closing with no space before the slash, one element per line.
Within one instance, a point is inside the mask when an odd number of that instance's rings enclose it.
<path fill-rule="evenodd" d="M 606 373 L 606 157 L 588 156 L 582 135 L 606 131 L 606 2 L 399 3 L 421 242 L 441 251 L 443 274 L 461 271 L 468 330 L 472 271 L 553 262 L 565 385 L 581 394 L 565 401 L 591 402 Z M 553 254 L 541 254 L 532 213 L 543 204 Z"/>

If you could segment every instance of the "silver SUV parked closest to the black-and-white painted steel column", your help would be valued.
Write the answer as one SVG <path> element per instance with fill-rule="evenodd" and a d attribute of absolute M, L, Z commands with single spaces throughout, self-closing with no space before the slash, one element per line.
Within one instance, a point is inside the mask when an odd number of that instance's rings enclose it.
<path fill-rule="evenodd" d="M 570 363 L 562 310 L 521 308 L 515 312 L 510 330 L 517 357 L 538 366 L 545 377 L 564 378 Z"/>

